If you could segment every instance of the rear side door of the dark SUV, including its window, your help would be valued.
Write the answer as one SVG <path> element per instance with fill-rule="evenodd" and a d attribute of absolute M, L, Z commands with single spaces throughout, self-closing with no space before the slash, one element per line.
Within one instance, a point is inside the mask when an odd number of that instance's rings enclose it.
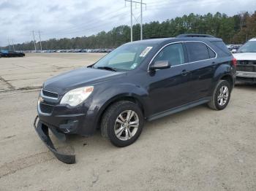
<path fill-rule="evenodd" d="M 216 67 L 217 53 L 203 42 L 185 42 L 188 55 L 188 70 L 191 72 L 189 79 L 189 101 L 205 98 L 211 88 Z"/>

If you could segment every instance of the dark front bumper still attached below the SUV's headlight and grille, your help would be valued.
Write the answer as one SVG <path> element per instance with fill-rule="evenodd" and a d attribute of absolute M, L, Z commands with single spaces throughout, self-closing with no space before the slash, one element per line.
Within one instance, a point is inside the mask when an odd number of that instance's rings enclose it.
<path fill-rule="evenodd" d="M 61 133 L 90 136 L 95 132 L 97 112 L 89 110 L 89 101 L 75 107 L 58 103 L 58 100 L 54 103 L 53 100 L 42 98 L 39 95 L 37 105 L 39 120 L 45 125 L 48 125 L 48 127 L 55 128 Z M 40 109 L 42 105 L 50 107 L 50 112 L 45 113 L 42 111 Z"/>

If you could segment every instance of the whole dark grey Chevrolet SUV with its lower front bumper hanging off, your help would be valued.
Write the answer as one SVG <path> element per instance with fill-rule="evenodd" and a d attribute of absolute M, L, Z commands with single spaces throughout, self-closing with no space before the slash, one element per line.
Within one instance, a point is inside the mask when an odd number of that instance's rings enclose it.
<path fill-rule="evenodd" d="M 48 79 L 39 93 L 39 137 L 64 163 L 58 137 L 92 135 L 97 128 L 117 147 L 138 139 L 144 120 L 156 120 L 200 104 L 225 109 L 236 79 L 236 59 L 222 39 L 186 34 L 129 42 L 91 66 Z"/>

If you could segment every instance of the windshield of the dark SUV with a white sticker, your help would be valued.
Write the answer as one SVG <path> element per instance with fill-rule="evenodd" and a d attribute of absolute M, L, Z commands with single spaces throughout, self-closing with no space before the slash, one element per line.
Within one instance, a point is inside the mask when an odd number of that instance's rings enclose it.
<path fill-rule="evenodd" d="M 124 44 L 97 61 L 93 67 L 116 71 L 132 70 L 140 66 L 153 47 L 152 44 Z"/>

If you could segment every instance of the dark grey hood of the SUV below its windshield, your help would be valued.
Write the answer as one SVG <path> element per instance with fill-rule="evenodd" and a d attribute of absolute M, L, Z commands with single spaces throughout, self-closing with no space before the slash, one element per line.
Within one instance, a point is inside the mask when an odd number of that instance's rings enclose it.
<path fill-rule="evenodd" d="M 64 93 L 69 90 L 108 81 L 121 74 L 124 74 L 124 72 L 91 69 L 85 67 L 75 69 L 46 80 L 43 85 L 43 89 L 58 93 L 59 95 L 64 95 Z"/>

